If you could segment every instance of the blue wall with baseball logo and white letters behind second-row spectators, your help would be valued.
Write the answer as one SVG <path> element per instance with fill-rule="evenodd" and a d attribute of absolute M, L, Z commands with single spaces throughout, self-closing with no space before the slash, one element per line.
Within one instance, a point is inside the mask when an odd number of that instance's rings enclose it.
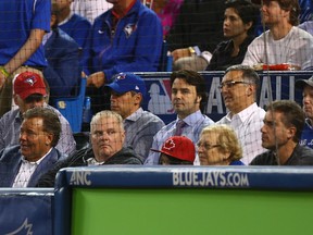
<path fill-rule="evenodd" d="M 137 73 L 146 81 L 147 96 L 142 103 L 143 109 L 159 115 L 166 124 L 176 119 L 171 102 L 171 73 Z M 206 81 L 208 104 L 205 114 L 218 121 L 226 113 L 218 85 L 224 72 L 200 72 Z M 302 91 L 295 90 L 297 79 L 308 79 L 313 72 L 259 72 L 261 78 L 258 103 L 264 108 L 271 100 L 290 99 L 301 103 Z"/>

